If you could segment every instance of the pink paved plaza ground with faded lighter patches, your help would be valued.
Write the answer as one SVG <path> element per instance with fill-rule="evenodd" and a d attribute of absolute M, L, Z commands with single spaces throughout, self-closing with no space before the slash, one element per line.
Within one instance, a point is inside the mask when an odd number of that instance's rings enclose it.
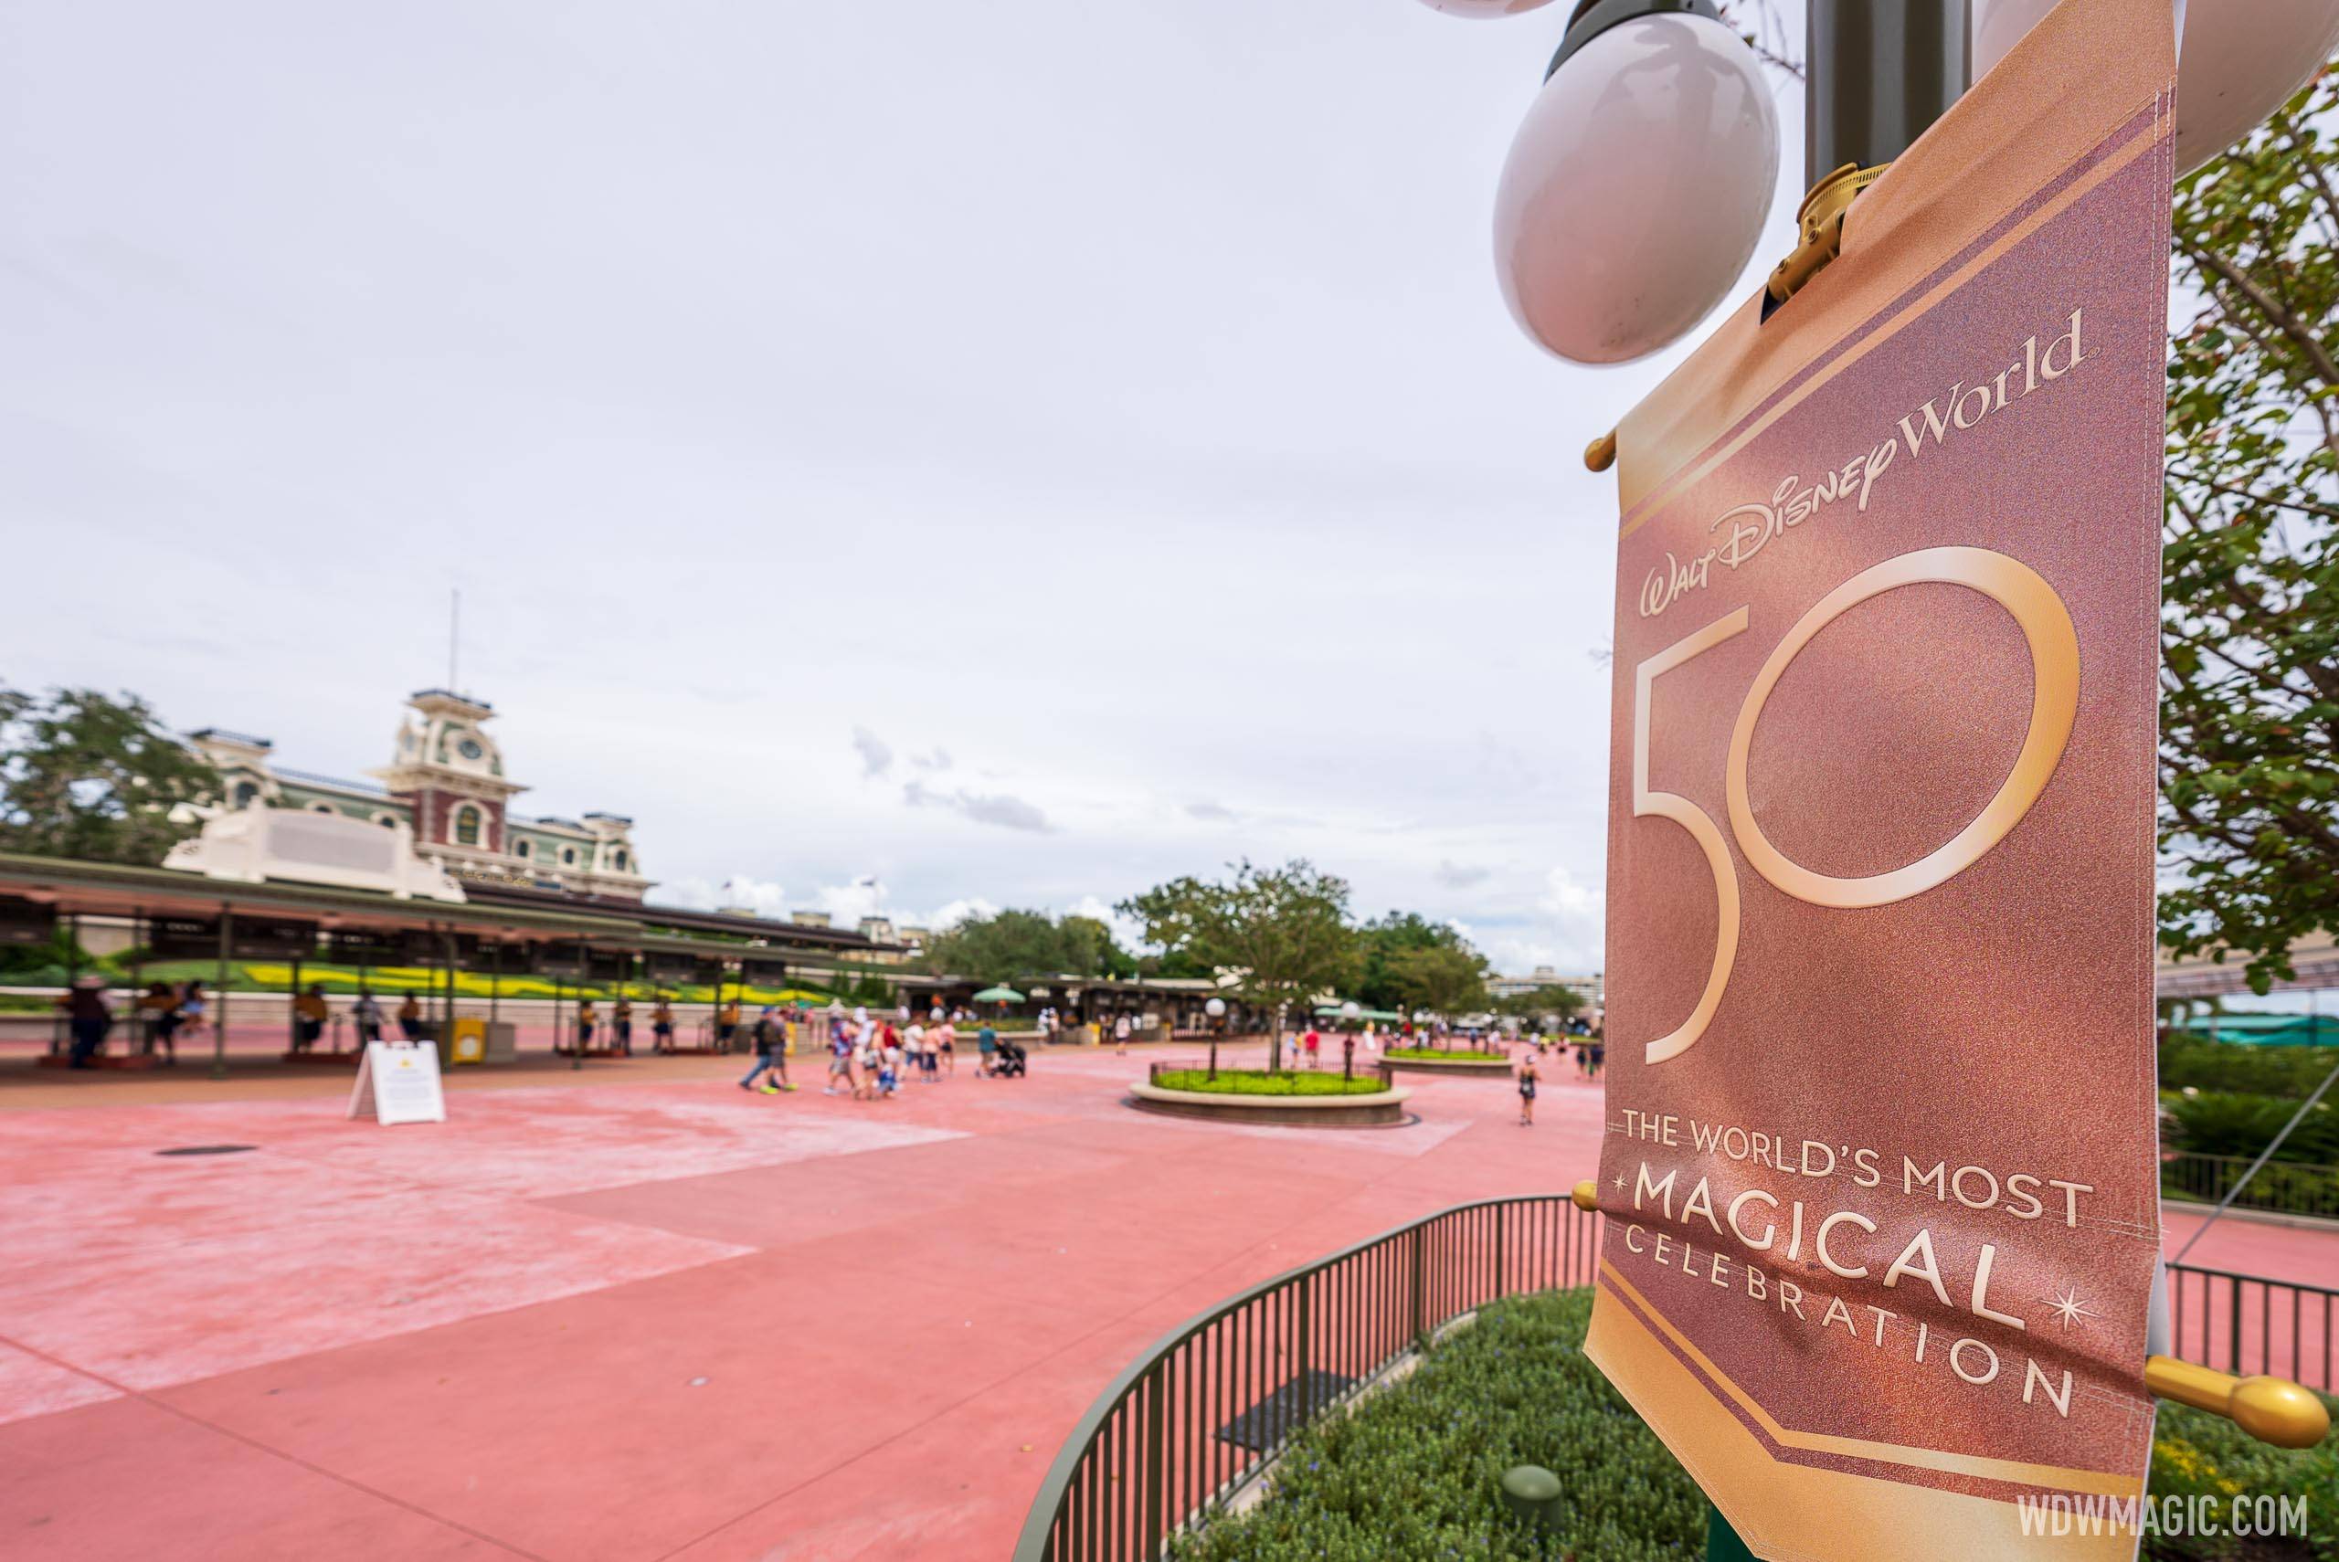
<path fill-rule="evenodd" d="M 795 1066 L 791 1097 L 741 1059 L 461 1076 L 395 1129 L 339 1076 L 12 1073 L 0 1550 L 1006 1557 L 1170 1326 L 1600 1143 L 1572 1066 L 1534 1129 L 1497 1078 L 1352 1132 L 1139 1115 L 1109 1055 L 889 1104 Z M 194 1143 L 255 1148 L 157 1155 Z M 2339 1239 L 2229 1221 L 2189 1263 L 2332 1286 Z"/>

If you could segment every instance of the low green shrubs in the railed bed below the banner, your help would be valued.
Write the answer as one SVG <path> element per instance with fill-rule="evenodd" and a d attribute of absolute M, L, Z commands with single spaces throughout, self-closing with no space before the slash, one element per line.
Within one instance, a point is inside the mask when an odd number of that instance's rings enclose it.
<path fill-rule="evenodd" d="M 1265 1501 L 1212 1520 L 1179 1562 L 1647 1562 L 1705 1555 L 1705 1497 L 1584 1356 L 1588 1291 L 1495 1302 L 1354 1415 L 1303 1431 Z M 1502 1473 L 1541 1464 L 1567 1487 L 1558 1532 L 1504 1511 Z M 2154 1562 L 2339 1562 L 2339 1445 L 2288 1452 L 2231 1422 L 2161 1405 L 2154 1497 L 2306 1497 L 2306 1539 L 2147 1536 Z"/>

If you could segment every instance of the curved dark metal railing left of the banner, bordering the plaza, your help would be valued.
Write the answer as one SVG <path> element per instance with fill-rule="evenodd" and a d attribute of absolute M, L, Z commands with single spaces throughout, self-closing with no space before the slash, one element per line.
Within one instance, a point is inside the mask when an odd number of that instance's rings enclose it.
<path fill-rule="evenodd" d="M 1600 1216 L 1565 1193 L 1457 1204 L 1179 1323 L 1088 1408 L 1015 1562 L 1151 1562 L 1310 1419 L 1497 1295 L 1584 1286 Z"/>

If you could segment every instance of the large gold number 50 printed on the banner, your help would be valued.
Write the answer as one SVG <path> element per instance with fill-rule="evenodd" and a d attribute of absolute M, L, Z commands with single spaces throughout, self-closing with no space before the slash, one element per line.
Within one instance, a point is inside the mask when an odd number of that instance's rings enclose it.
<path fill-rule="evenodd" d="M 1939 849 L 1927 851 L 1906 868 L 1862 879 L 1836 879 L 1813 872 L 1773 846 L 1754 821 L 1754 804 L 1747 802 L 1747 751 L 1754 746 L 1754 723 L 1761 720 L 1764 701 L 1771 699 L 1771 690 L 1778 687 L 1780 676 L 1785 676 L 1787 666 L 1810 645 L 1820 629 L 1827 629 L 1827 624 L 1871 596 L 1925 582 L 1960 585 L 1981 592 L 2012 613 L 2021 627 L 2023 641 L 2030 645 L 2030 727 L 2023 732 L 2023 748 L 2014 755 L 2014 769 L 2007 772 L 2007 779 L 1998 786 L 1988 804 Z M 1649 1043 L 1647 1062 L 1651 1064 L 1679 1057 L 1698 1045 L 1714 1010 L 1722 1008 L 1722 994 L 1731 984 L 1731 966 L 1738 959 L 1740 910 L 1738 870 L 1731 863 L 1729 846 L 1722 842 L 1722 828 L 1712 814 L 1679 793 L 1649 790 L 1649 690 L 1675 666 L 1745 634 L 1745 627 L 1747 610 L 1738 608 L 1633 669 L 1633 816 L 1656 814 L 1689 830 L 1698 849 L 1705 851 L 1707 868 L 1714 872 L 1717 903 L 1714 968 L 1705 977 L 1705 991 L 1698 996 L 1698 1008 L 1689 1012 L 1689 1020 L 1679 1029 Z M 1738 839 L 1738 849 L 1747 863 L 1754 865 L 1754 872 L 1768 879 L 1773 889 L 1810 905 L 1850 910 L 1920 896 L 1988 856 L 2007 837 L 2007 830 L 2030 811 L 2030 804 L 2047 790 L 2047 781 L 2063 758 L 2063 744 L 2070 739 L 2070 725 L 2077 713 L 2079 631 L 2072 627 L 2063 599 L 2054 594 L 2054 587 L 2037 571 L 1986 547 L 1923 547 L 1885 559 L 1860 571 L 1813 603 L 1761 664 L 1761 671 L 1754 673 L 1754 685 L 1747 690 L 1745 704 L 1738 706 L 1738 725 L 1731 730 L 1731 751 L 1724 769 L 1731 835 Z"/>

